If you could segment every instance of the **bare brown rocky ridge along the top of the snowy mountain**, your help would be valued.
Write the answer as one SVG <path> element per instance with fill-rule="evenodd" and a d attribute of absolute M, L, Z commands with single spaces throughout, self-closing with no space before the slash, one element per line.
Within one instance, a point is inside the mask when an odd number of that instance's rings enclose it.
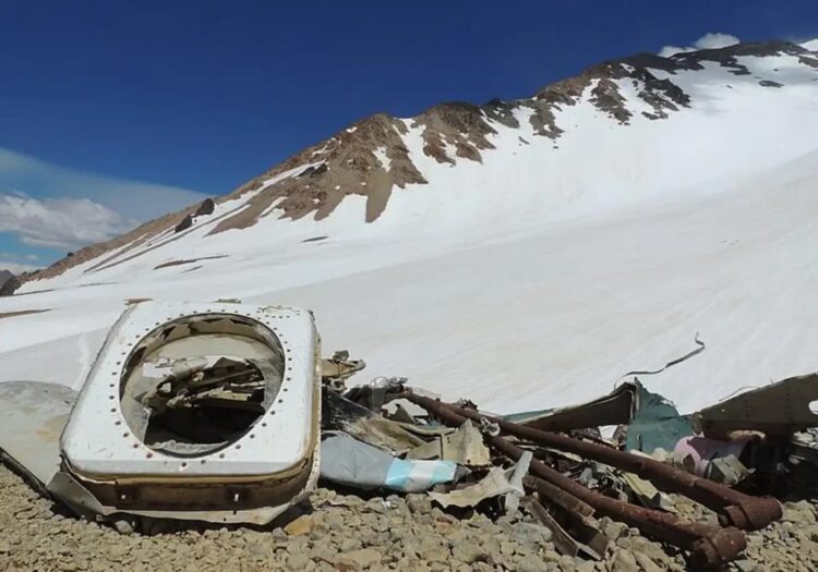
<path fill-rule="evenodd" d="M 557 114 L 576 106 L 586 93 L 599 112 L 626 126 L 635 115 L 651 121 L 665 120 L 690 105 L 688 94 L 674 76 L 679 72 L 705 70 L 718 65 L 730 75 L 751 75 L 741 58 L 767 58 L 786 54 L 818 71 L 818 51 L 785 41 L 737 44 L 720 49 L 682 52 L 670 58 L 652 53 L 608 60 L 576 76 L 549 84 L 531 97 L 513 100 L 493 99 L 483 105 L 462 101 L 443 102 L 408 119 L 377 113 L 356 121 L 332 137 L 292 155 L 233 192 L 216 198 L 217 205 L 249 196 L 240 206 L 212 219 L 207 236 L 234 229 L 245 229 L 276 214 L 278 219 L 300 220 L 312 216 L 322 221 L 351 195 L 365 199 L 363 222 L 377 220 L 393 194 L 409 185 L 426 185 L 429 173 L 417 165 L 407 144 L 410 132 L 422 142 L 422 154 L 440 166 L 456 167 L 465 161 L 482 163 L 485 154 L 496 150 L 492 137 L 501 127 L 531 130 L 557 147 L 568 125 L 561 125 Z M 666 75 L 660 77 L 660 75 Z M 765 83 L 767 82 L 767 83 Z M 631 109 L 634 96 L 645 107 Z M 779 82 L 762 78 L 759 85 L 780 87 Z M 520 144 L 530 142 L 522 134 Z M 158 235 L 191 218 L 199 205 L 168 214 L 104 243 L 97 243 L 32 272 L 26 280 L 59 276 L 69 268 L 103 257 L 85 271 L 106 267 L 113 256 L 144 246 Z M 105 256 L 113 253 L 113 256 Z"/>

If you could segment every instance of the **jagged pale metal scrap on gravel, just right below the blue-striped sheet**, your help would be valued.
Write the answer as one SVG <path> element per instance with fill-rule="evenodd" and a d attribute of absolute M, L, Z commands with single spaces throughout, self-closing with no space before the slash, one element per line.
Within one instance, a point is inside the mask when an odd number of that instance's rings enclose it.
<path fill-rule="evenodd" d="M 452 490 L 450 492 L 430 492 L 429 496 L 442 507 L 476 507 L 485 499 L 505 497 L 506 502 L 510 500 L 509 512 L 515 512 L 526 491 L 522 487 L 522 478 L 528 473 L 531 463 L 531 452 L 526 451 L 509 470 L 494 466 L 480 482 Z"/>

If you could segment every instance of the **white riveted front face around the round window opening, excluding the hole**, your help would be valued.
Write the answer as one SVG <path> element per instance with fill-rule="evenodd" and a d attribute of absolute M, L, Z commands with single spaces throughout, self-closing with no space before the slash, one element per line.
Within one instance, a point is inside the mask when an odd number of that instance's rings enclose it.
<path fill-rule="evenodd" d="M 131 435 L 122 415 L 119 385 L 124 357 L 148 332 L 182 316 L 207 313 L 243 316 L 280 340 L 285 380 L 276 402 L 243 437 L 224 449 L 182 458 L 149 449 Z M 62 436 L 71 466 L 93 476 L 274 475 L 302 464 L 315 447 L 318 418 L 314 325 L 308 312 L 239 304 L 143 302 L 111 328 Z M 252 437 L 251 437 L 252 435 Z M 151 455 L 148 457 L 148 453 Z"/>

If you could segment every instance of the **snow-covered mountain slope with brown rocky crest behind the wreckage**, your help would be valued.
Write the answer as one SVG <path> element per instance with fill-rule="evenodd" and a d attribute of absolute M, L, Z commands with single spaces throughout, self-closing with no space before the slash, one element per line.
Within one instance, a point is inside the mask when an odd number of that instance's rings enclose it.
<path fill-rule="evenodd" d="M 593 66 L 373 115 L 0 301 L 4 379 L 74 387 L 129 299 L 297 304 L 327 351 L 495 410 L 653 379 L 695 407 L 818 369 L 818 42 Z M 45 358 L 44 358 L 45 357 Z"/>

